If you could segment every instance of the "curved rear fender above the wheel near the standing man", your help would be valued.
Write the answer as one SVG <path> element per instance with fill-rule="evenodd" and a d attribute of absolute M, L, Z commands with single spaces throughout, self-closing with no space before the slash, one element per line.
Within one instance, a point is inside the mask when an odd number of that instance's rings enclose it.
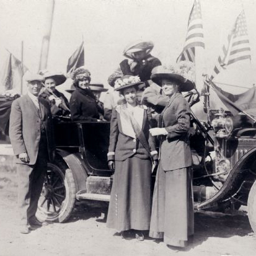
<path fill-rule="evenodd" d="M 88 174 L 82 163 L 82 158 L 79 152 L 71 153 L 63 149 L 56 149 L 56 153 L 63 158 L 63 160 L 66 162 L 67 166 L 73 173 L 77 191 L 85 190 Z"/>

